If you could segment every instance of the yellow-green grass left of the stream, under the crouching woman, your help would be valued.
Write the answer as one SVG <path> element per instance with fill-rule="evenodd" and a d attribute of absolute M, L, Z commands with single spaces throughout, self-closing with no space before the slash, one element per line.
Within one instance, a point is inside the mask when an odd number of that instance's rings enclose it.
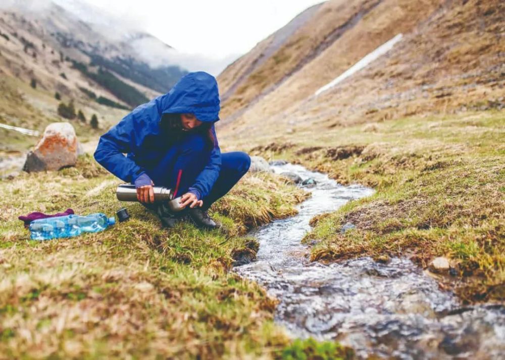
<path fill-rule="evenodd" d="M 46 242 L 30 241 L 17 219 L 68 207 L 111 216 L 121 207 L 118 183 L 89 155 L 76 167 L 0 182 L 0 357 L 352 355 L 334 343 L 291 343 L 273 323 L 275 300 L 229 271 L 258 250 L 239 235 L 294 214 L 308 196 L 272 174 L 247 174 L 215 204 L 222 231 L 165 230 L 136 203 L 111 229 Z"/>

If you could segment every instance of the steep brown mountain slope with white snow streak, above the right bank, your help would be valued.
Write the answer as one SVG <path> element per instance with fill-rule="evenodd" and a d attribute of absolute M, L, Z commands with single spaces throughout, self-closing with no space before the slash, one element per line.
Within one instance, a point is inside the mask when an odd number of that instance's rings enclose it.
<path fill-rule="evenodd" d="M 233 136 L 321 129 L 405 115 L 503 106 L 499 1 L 330 1 L 227 94 L 221 124 Z M 330 90 L 315 92 L 375 48 L 387 54 Z M 265 40 L 267 41 L 267 40 Z M 260 43 L 220 76 L 245 69 Z M 243 71 L 243 70 L 242 70 Z M 261 127 L 258 125 L 261 124 Z M 315 125 L 317 124 L 317 125 Z M 277 131 L 273 131 L 277 130 Z"/>

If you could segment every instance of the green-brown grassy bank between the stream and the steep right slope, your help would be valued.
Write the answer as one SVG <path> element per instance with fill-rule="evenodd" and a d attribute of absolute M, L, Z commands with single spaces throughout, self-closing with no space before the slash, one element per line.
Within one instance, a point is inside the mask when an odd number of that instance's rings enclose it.
<path fill-rule="evenodd" d="M 376 188 L 372 197 L 313 219 L 315 229 L 306 236 L 317 243 L 313 260 L 389 254 L 427 266 L 435 256 L 447 256 L 458 275 L 440 280 L 463 299 L 502 300 L 504 119 L 503 111 L 486 111 L 324 132 L 307 128 L 252 152 L 300 162 L 343 184 Z M 347 221 L 356 229 L 341 234 Z"/>

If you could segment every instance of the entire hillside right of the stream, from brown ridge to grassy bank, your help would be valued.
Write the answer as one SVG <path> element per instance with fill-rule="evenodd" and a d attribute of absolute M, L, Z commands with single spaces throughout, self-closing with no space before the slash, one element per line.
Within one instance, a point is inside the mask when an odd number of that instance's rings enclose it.
<path fill-rule="evenodd" d="M 426 268 L 443 256 L 455 276 L 441 286 L 470 303 L 503 301 L 504 12 L 494 0 L 328 2 L 271 55 L 276 66 L 241 79 L 224 102 L 221 142 L 377 190 L 313 219 L 312 260 L 401 255 Z M 232 71 L 219 77 L 225 89 Z M 348 222 L 356 230 L 343 235 Z"/>

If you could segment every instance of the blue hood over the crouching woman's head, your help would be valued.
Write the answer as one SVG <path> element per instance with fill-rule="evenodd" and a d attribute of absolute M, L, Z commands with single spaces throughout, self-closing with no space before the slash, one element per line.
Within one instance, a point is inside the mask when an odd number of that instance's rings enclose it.
<path fill-rule="evenodd" d="M 211 123 L 219 120 L 219 104 L 216 78 L 203 71 L 183 76 L 159 102 L 162 114 L 188 112 Z"/>

